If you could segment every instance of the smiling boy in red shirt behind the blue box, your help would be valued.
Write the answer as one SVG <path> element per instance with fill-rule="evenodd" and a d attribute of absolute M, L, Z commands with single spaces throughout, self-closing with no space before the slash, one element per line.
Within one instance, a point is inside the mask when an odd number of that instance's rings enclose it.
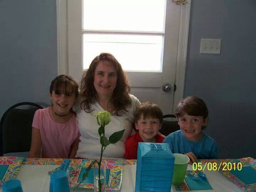
<path fill-rule="evenodd" d="M 162 125 L 162 111 L 158 105 L 145 102 L 134 112 L 136 133 L 126 140 L 124 158 L 137 159 L 139 142 L 162 143 L 164 137 L 159 134 Z"/>

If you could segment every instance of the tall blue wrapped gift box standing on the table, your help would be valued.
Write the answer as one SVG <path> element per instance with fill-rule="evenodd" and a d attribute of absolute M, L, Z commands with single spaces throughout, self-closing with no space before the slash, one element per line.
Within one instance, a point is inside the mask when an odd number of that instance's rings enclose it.
<path fill-rule="evenodd" d="M 139 143 L 135 192 L 170 192 L 174 156 L 169 143 Z"/>

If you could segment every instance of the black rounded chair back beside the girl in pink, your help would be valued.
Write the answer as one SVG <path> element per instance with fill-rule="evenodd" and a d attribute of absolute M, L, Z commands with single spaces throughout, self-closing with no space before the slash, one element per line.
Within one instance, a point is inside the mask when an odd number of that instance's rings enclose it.
<path fill-rule="evenodd" d="M 22 105 L 33 108 L 16 109 Z M 21 102 L 6 110 L 0 122 L 0 156 L 30 150 L 34 113 L 42 108 L 36 103 Z"/>

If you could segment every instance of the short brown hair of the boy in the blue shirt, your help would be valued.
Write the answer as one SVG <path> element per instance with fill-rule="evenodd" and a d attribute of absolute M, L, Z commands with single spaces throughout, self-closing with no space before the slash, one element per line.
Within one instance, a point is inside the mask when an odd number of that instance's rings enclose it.
<path fill-rule="evenodd" d="M 185 113 L 190 116 L 202 116 L 204 119 L 208 117 L 208 108 L 201 98 L 196 96 L 189 96 L 180 101 L 177 109 L 175 110 L 175 116 L 181 117 Z M 206 126 L 202 126 L 202 129 Z"/>

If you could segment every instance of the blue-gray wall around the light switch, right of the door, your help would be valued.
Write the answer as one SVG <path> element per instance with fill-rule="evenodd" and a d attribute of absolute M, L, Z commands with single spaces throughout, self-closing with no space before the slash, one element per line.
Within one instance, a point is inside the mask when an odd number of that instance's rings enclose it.
<path fill-rule="evenodd" d="M 255 21 L 255 0 L 192 0 L 184 96 L 206 102 L 219 158 L 256 157 Z M 221 54 L 199 54 L 201 38 Z"/>

